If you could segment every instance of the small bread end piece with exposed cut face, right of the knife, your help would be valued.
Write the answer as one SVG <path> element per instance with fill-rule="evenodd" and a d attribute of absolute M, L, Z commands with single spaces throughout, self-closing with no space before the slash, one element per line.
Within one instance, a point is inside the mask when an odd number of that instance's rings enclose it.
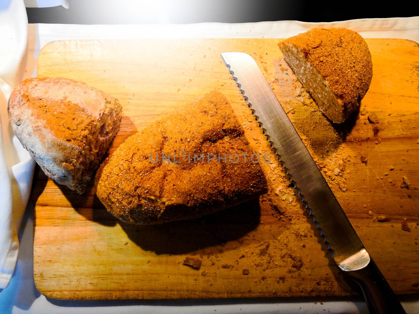
<path fill-rule="evenodd" d="M 345 121 L 359 106 L 372 79 L 370 50 L 360 34 L 346 28 L 313 28 L 278 45 L 331 121 Z"/>

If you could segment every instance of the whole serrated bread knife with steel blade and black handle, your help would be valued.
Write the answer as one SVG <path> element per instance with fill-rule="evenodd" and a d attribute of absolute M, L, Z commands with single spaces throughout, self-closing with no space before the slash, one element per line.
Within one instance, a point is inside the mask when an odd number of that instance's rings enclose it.
<path fill-rule="evenodd" d="M 221 57 L 320 229 L 336 265 L 361 286 L 370 313 L 405 313 L 256 62 L 241 52 L 225 52 Z"/>

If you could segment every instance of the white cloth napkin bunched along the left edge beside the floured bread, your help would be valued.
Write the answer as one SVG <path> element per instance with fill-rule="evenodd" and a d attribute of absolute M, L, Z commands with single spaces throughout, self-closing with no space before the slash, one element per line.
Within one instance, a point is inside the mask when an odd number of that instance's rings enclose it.
<path fill-rule="evenodd" d="M 0 2 L 0 291 L 16 265 L 17 230 L 31 191 L 34 160 L 11 129 L 7 105 L 22 80 L 19 71 L 28 40 L 28 18 L 23 1 Z"/>

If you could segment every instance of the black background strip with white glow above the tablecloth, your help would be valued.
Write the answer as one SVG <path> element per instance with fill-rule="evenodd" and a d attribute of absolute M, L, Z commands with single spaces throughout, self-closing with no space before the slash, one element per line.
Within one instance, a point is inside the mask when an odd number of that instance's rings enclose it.
<path fill-rule="evenodd" d="M 344 21 L 419 15 L 414 2 L 264 0 L 68 0 L 70 8 L 27 8 L 29 23 L 145 24 Z"/>

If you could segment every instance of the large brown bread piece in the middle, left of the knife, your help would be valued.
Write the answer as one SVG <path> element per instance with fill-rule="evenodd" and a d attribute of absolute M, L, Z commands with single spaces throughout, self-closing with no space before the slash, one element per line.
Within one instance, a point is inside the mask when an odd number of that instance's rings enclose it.
<path fill-rule="evenodd" d="M 243 134 L 225 97 L 208 93 L 121 144 L 99 168 L 96 194 L 109 212 L 132 224 L 193 219 L 255 198 L 267 183 Z M 204 154 L 204 161 L 194 162 L 194 154 Z M 208 154 L 215 160 L 208 162 Z M 226 162 L 218 154 L 226 154 Z M 240 160 L 230 162 L 231 154 Z M 241 154 L 248 154 L 246 162 Z"/>

